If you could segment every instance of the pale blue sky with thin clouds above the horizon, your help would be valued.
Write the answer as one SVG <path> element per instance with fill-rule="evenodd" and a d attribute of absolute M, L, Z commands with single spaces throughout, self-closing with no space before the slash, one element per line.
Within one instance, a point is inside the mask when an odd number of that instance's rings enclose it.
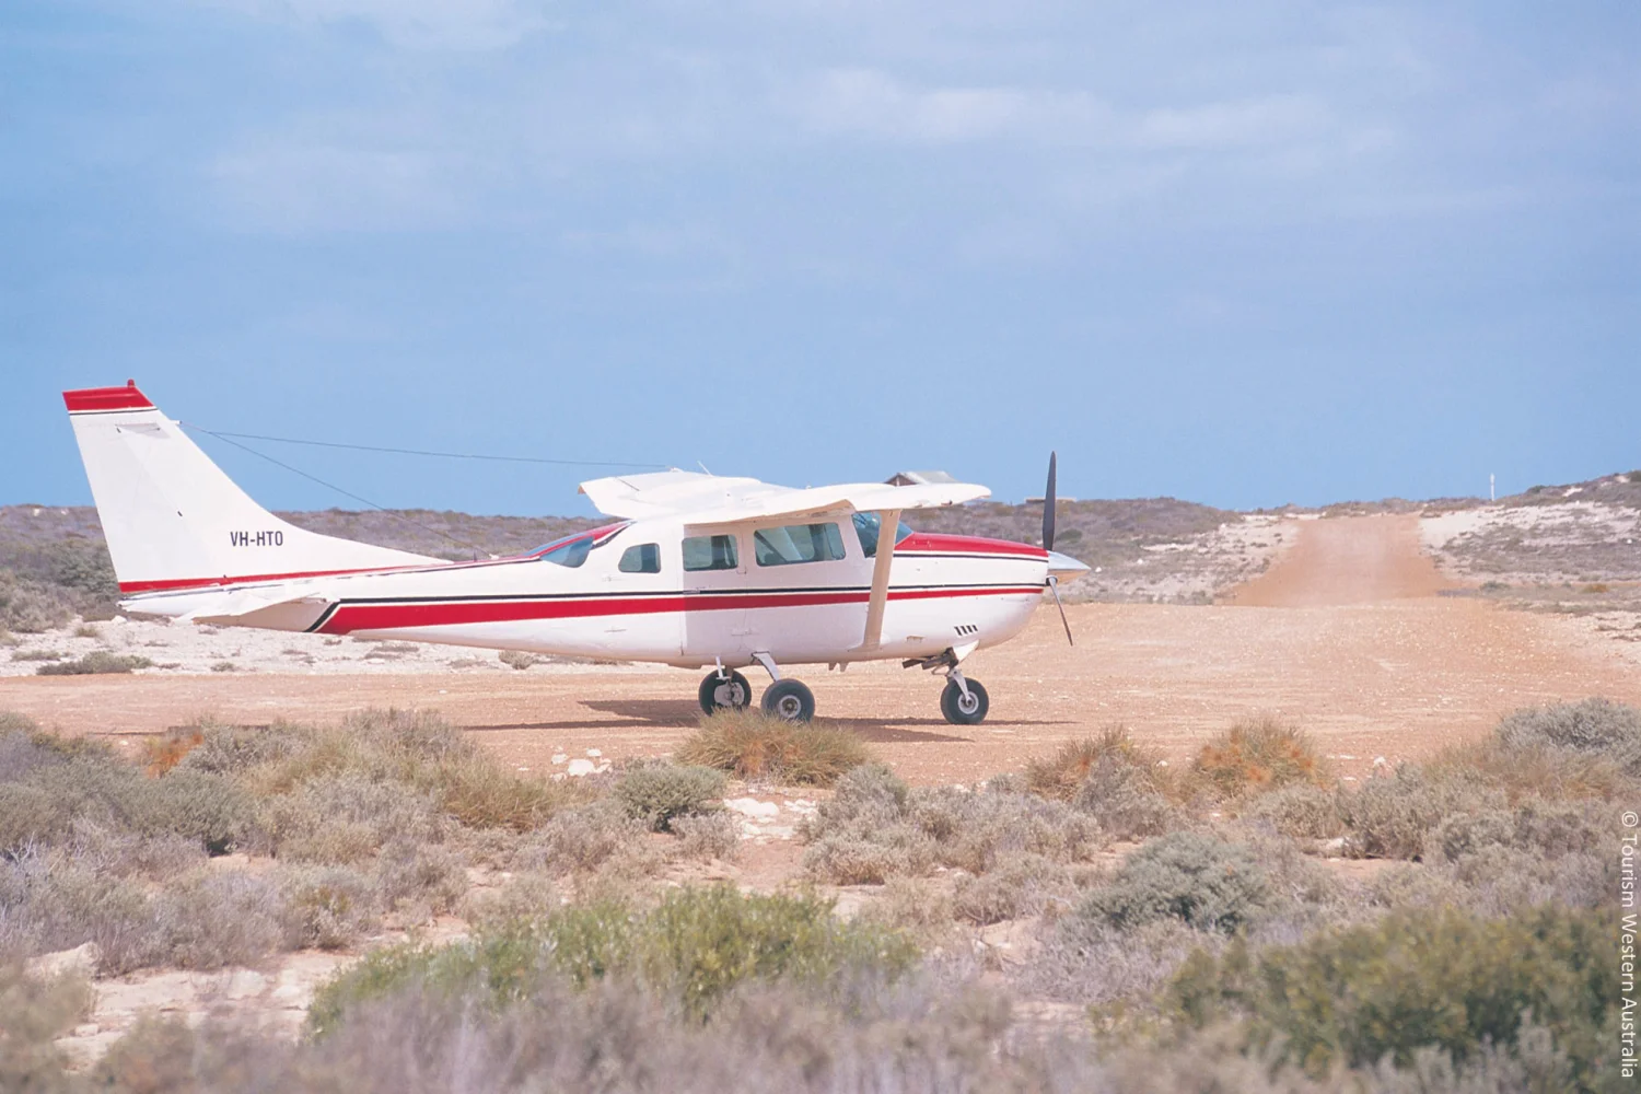
<path fill-rule="evenodd" d="M 1641 467 L 1641 7 L 8 0 L 0 504 L 215 431 L 1221 507 Z M 359 504 L 203 433 L 271 508 Z M 389 507 L 624 467 L 243 441 Z"/>

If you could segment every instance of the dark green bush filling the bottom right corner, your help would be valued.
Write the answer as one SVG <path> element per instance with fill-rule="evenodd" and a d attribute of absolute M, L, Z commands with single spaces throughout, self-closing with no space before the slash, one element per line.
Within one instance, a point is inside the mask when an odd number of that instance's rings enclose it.
<path fill-rule="evenodd" d="M 1547 905 L 1513 919 L 1456 909 L 1393 912 L 1290 946 L 1195 955 L 1170 1001 L 1190 1025 L 1241 1020 L 1249 1043 L 1324 1073 L 1434 1045 L 1464 1060 L 1513 1045 L 1523 1017 L 1554 1033 L 1587 1086 L 1616 1051 L 1620 1001 L 1607 956 L 1616 915 Z"/>

